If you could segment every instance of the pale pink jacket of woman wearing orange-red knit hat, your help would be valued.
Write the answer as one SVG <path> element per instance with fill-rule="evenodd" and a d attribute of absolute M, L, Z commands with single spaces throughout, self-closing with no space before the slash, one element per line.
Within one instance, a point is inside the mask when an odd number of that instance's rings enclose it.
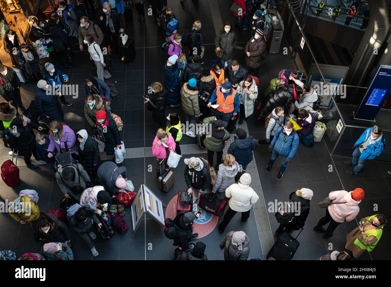
<path fill-rule="evenodd" d="M 343 223 L 345 220 L 349 222 L 359 214 L 359 203 L 361 203 L 361 200 L 355 201 L 352 198 L 352 192 L 337 190 L 328 194 L 328 198 L 334 202 L 346 202 L 345 204 L 330 204 L 327 207 L 328 213 L 330 213 L 330 216 L 335 222 Z"/>

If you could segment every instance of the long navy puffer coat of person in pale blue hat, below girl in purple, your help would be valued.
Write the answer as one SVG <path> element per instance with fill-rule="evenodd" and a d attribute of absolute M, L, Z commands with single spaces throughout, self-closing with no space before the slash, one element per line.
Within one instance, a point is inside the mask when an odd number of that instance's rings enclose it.
<path fill-rule="evenodd" d="M 166 65 L 164 66 L 166 69 L 166 78 L 164 87 L 168 91 L 166 96 L 166 104 L 167 105 L 176 105 L 181 102 L 181 85 L 179 84 L 179 74 L 183 73 L 181 70 L 179 70 L 179 64 L 178 62 L 175 62 L 174 65 L 169 67 Z M 172 90 L 172 91 L 170 91 Z"/>

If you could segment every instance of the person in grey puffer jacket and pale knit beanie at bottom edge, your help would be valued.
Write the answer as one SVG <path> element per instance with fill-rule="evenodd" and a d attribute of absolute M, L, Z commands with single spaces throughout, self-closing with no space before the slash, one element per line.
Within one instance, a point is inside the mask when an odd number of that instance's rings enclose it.
<path fill-rule="evenodd" d="M 230 231 L 220 242 L 224 260 L 247 260 L 250 255 L 250 239 L 243 231 Z"/>

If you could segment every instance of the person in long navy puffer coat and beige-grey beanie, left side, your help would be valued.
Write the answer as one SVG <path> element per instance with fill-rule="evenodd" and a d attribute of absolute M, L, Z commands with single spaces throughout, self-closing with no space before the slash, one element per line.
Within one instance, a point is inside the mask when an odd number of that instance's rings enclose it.
<path fill-rule="evenodd" d="M 35 106 L 41 118 L 49 118 L 50 120 L 64 121 L 64 113 L 61 105 L 56 99 L 56 95 L 52 95 L 50 85 L 45 80 L 39 80 L 37 91 L 34 96 Z"/>

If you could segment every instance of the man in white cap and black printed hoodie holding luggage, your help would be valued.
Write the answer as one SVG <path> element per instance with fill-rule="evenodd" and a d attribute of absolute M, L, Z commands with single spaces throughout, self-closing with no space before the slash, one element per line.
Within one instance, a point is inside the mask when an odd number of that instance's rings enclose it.
<path fill-rule="evenodd" d="M 206 188 L 212 183 L 210 172 L 205 162 L 201 158 L 185 158 L 185 182 L 187 192 L 194 192 L 193 203 L 196 203 L 199 193 L 204 193 Z"/>

